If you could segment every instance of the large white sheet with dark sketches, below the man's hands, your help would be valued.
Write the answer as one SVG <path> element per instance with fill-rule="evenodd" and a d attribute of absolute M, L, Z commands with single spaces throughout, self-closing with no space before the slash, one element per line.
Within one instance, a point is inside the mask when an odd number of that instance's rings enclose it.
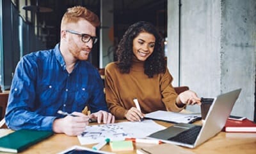
<path fill-rule="evenodd" d="M 147 129 L 145 129 L 147 128 Z M 143 122 L 120 122 L 113 124 L 90 125 L 84 132 L 77 136 L 81 145 L 100 143 L 109 138 L 110 141 L 122 141 L 125 137 L 143 138 L 163 130 L 166 127 L 157 124 L 153 120 Z"/>

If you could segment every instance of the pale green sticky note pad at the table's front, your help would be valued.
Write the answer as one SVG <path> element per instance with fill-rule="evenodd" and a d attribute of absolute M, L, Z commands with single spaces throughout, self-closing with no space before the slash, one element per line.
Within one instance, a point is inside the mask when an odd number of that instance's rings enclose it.
<path fill-rule="evenodd" d="M 132 141 L 113 141 L 109 144 L 112 151 L 133 150 Z"/>

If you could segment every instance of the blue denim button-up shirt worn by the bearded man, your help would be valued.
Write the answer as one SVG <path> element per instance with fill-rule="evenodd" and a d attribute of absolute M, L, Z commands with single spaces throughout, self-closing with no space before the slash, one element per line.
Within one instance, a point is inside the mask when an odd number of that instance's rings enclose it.
<path fill-rule="evenodd" d="M 68 73 L 59 45 L 25 55 L 17 64 L 6 108 L 6 125 L 13 130 L 52 130 L 57 111 L 108 111 L 99 72 L 77 61 Z"/>

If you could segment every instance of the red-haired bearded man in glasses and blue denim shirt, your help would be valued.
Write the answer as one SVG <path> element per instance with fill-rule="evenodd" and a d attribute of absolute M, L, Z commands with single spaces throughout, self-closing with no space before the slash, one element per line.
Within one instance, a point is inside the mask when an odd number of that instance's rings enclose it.
<path fill-rule="evenodd" d="M 68 136 L 81 134 L 89 119 L 114 123 L 108 113 L 103 83 L 87 62 L 97 41 L 99 18 L 82 6 L 68 8 L 61 20 L 60 44 L 54 49 L 22 57 L 13 76 L 6 125 L 13 130 L 52 130 Z M 88 105 L 92 115 L 81 111 Z M 61 110 L 72 116 L 58 114 Z"/>

